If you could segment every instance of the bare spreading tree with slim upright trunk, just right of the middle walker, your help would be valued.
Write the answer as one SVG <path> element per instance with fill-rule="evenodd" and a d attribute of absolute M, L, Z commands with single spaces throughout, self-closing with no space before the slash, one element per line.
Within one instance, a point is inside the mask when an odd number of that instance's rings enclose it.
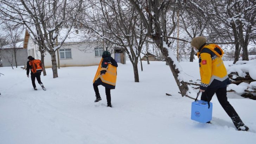
<path fill-rule="evenodd" d="M 95 14 L 89 17 L 92 21 L 81 20 L 81 22 L 102 39 L 113 43 L 116 47 L 124 48 L 133 65 L 134 81 L 139 82 L 137 64 L 146 40 L 146 29 L 136 10 L 131 8 L 126 0 L 100 0 L 94 9 L 97 9 Z"/>

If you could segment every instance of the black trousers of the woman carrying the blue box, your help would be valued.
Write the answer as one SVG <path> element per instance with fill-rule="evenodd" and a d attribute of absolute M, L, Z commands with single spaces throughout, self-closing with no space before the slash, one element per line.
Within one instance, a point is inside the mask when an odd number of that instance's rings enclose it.
<path fill-rule="evenodd" d="M 238 129 L 239 126 L 244 126 L 244 123 L 236 113 L 233 106 L 228 102 L 226 89 L 227 87 L 207 89 L 205 92 L 202 93 L 201 100 L 210 102 L 212 96 L 214 95 L 214 93 L 216 93 L 220 105 L 223 107 L 223 109 L 226 111 L 226 113 L 229 115 L 229 117 L 232 119 L 232 122 Z"/>

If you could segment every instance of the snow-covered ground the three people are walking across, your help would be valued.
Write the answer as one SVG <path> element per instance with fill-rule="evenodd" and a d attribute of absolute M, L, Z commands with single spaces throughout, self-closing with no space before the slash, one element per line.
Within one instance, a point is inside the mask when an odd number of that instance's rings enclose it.
<path fill-rule="evenodd" d="M 248 132 L 236 131 L 213 97 L 212 124 L 190 119 L 192 99 L 181 97 L 165 62 L 143 61 L 140 83 L 134 83 L 132 64 L 119 63 L 113 108 L 95 104 L 92 87 L 97 66 L 64 67 L 59 78 L 41 76 L 47 91 L 20 68 L 0 67 L 0 144 L 254 144 L 256 101 L 228 93 L 229 102 Z M 188 77 L 200 79 L 198 62 L 181 62 Z M 225 62 L 232 64 L 232 62 Z M 140 70 L 140 66 L 139 66 Z M 198 90 L 197 90 L 198 91 Z M 197 92 L 195 91 L 195 93 Z M 166 96 L 170 93 L 172 96 Z M 196 97 L 196 96 L 194 96 Z"/>

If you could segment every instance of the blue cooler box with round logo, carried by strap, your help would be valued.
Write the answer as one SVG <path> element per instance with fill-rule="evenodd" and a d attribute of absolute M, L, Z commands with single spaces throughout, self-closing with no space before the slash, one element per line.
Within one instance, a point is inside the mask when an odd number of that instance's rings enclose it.
<path fill-rule="evenodd" d="M 191 119 L 200 123 L 206 123 L 212 120 L 212 103 L 208 109 L 208 103 L 203 100 L 192 102 Z"/>

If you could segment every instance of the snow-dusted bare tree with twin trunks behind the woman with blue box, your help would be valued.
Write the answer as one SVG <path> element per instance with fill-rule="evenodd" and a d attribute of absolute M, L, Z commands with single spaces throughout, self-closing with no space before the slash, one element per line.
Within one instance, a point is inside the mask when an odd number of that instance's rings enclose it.
<path fill-rule="evenodd" d="M 193 1 L 190 1 L 194 3 Z M 202 5 L 208 5 L 207 9 L 203 9 Z M 201 12 L 206 15 L 211 15 L 211 24 L 216 24 L 215 30 L 222 28 L 228 31 L 219 31 L 220 38 L 223 38 L 223 32 L 228 34 L 226 37 L 230 37 L 232 42 L 235 43 L 235 60 L 238 61 L 239 48 L 242 47 L 243 60 L 248 59 L 248 45 L 249 42 L 255 37 L 255 16 L 256 16 L 256 1 L 204 1 L 203 3 L 197 3 L 196 7 L 201 7 Z"/>

